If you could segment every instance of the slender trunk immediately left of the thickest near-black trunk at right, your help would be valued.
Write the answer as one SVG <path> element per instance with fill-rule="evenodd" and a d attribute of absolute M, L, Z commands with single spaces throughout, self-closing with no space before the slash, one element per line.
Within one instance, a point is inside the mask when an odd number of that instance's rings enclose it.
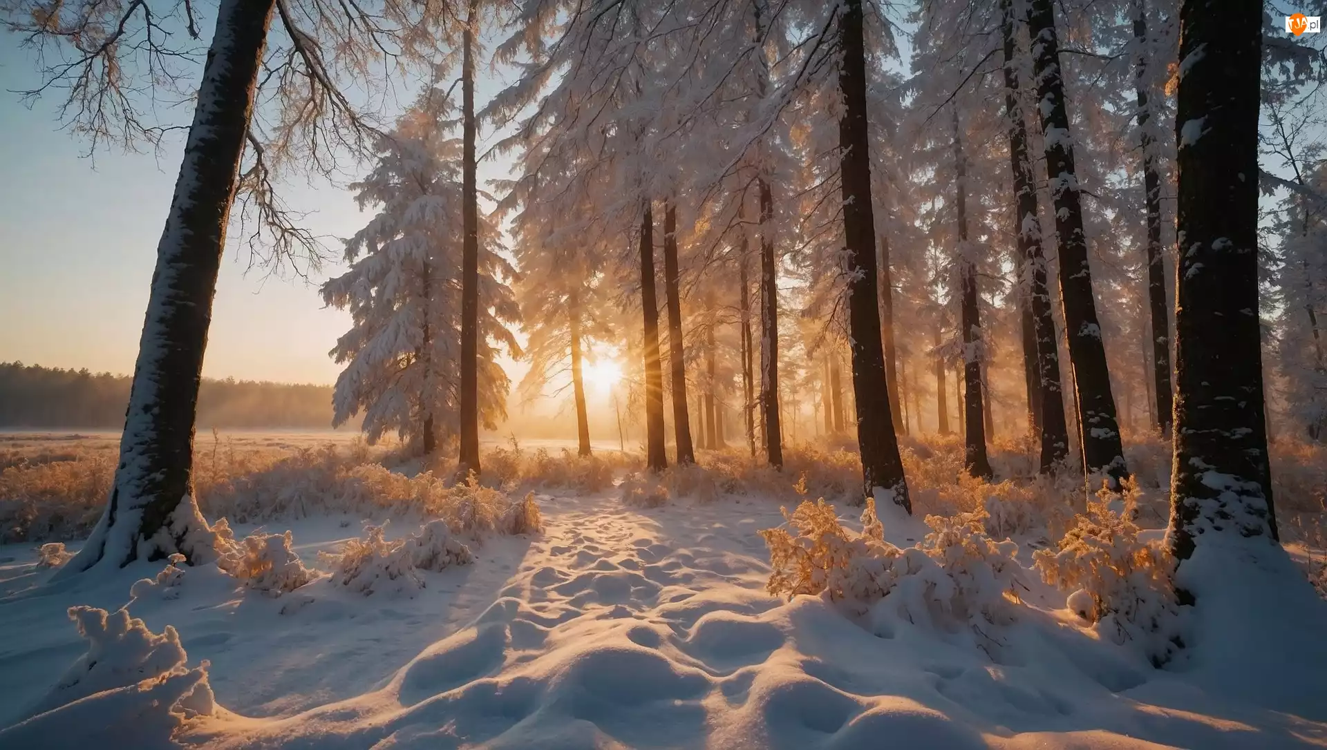
<path fill-rule="evenodd" d="M 1148 27 L 1144 19 L 1144 0 L 1133 3 L 1133 38 L 1139 45 L 1133 87 L 1139 101 L 1139 131 L 1143 146 L 1143 188 L 1148 215 L 1148 309 L 1152 315 L 1152 378 L 1157 399 L 1157 428 L 1170 433 L 1173 404 L 1170 402 L 1170 313 L 1165 303 L 1165 253 L 1161 250 L 1161 175 L 1156 166 L 1156 146 L 1149 121 L 1148 102 Z"/>

